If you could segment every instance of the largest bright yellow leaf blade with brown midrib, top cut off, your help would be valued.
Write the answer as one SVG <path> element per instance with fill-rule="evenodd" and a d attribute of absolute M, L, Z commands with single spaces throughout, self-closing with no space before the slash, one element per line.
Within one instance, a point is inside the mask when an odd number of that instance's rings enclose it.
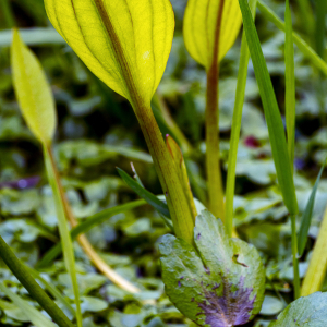
<path fill-rule="evenodd" d="M 149 104 L 166 69 L 174 29 L 169 0 L 45 0 L 48 16 L 110 88 Z"/>

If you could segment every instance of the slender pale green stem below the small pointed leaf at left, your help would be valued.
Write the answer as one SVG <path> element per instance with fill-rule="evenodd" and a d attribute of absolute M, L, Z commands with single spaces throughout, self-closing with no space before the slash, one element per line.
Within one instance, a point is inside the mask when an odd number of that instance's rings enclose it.
<path fill-rule="evenodd" d="M 59 175 L 56 169 L 55 158 L 52 156 L 50 145 L 44 144 L 44 155 L 45 155 L 47 174 L 48 174 L 50 186 L 52 189 L 53 199 L 56 203 L 58 227 L 59 227 L 60 238 L 62 240 L 62 245 L 63 245 L 63 257 L 64 257 L 66 270 L 71 277 L 72 288 L 75 298 L 77 326 L 82 327 L 83 323 L 82 323 L 82 312 L 81 312 L 81 304 L 80 304 L 80 290 L 78 290 L 78 283 L 76 277 L 73 242 L 70 237 L 65 211 L 64 211 L 63 204 L 61 202 L 60 189 L 58 187 L 58 183 L 57 183 L 57 180 L 59 180 Z"/>

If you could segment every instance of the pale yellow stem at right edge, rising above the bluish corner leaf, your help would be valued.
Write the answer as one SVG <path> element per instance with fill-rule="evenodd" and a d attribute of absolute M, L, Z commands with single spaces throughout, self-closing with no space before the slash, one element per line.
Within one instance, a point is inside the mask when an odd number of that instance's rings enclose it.
<path fill-rule="evenodd" d="M 314 246 L 308 268 L 303 280 L 301 296 L 320 291 L 327 271 L 327 208 Z"/>

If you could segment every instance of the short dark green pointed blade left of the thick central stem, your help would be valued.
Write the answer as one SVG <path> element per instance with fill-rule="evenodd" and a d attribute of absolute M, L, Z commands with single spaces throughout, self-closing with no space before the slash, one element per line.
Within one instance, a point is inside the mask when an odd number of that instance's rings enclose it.
<path fill-rule="evenodd" d="M 142 198 L 144 198 L 150 206 L 162 214 L 166 217 L 170 217 L 168 206 L 160 201 L 156 195 L 142 187 L 136 181 L 134 181 L 126 172 L 122 169 L 117 168 L 119 175 L 123 181 Z"/>

